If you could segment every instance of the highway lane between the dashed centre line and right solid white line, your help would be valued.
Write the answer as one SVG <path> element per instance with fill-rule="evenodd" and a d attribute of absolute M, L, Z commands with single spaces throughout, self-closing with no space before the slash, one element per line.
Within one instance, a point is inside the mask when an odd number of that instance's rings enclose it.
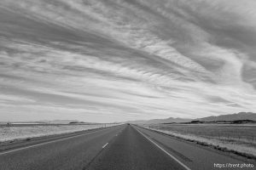
<path fill-rule="evenodd" d="M 102 151 L 88 169 L 183 170 L 185 168 L 155 147 L 134 127 L 128 126 L 119 134 L 119 138 Z"/>

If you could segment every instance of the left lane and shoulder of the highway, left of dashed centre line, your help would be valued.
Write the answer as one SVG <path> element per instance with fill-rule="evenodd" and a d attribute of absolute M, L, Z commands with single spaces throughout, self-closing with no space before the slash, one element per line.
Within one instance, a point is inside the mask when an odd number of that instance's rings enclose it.
<path fill-rule="evenodd" d="M 0 152 L 1 170 L 83 169 L 125 126 Z"/>

